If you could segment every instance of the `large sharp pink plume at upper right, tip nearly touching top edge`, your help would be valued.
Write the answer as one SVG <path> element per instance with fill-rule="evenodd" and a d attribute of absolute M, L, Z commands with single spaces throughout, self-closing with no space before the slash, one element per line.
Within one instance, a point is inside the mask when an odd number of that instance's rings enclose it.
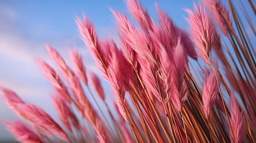
<path fill-rule="evenodd" d="M 194 11 L 195 13 L 186 9 L 186 12 L 189 13 L 189 18 L 186 18 L 186 20 L 189 22 L 191 39 L 198 49 L 198 55 L 211 67 L 209 51 L 211 51 L 213 44 L 215 26 L 200 4 L 197 7 L 194 3 Z"/>

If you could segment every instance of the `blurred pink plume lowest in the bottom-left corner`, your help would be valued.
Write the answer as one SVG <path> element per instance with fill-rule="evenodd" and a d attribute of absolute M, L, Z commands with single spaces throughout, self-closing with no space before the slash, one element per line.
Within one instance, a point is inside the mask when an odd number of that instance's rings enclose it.
<path fill-rule="evenodd" d="M 45 143 L 40 136 L 18 120 L 13 123 L 2 122 L 7 126 L 7 129 L 16 136 L 17 141 L 21 143 Z"/>

